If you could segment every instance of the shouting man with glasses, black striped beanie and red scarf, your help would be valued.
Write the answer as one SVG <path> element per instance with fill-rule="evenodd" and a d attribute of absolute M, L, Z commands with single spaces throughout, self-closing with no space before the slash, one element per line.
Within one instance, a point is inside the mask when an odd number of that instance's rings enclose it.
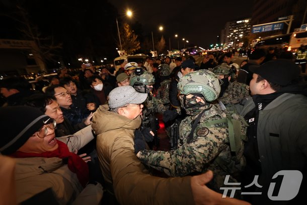
<path fill-rule="evenodd" d="M 88 165 L 72 153 L 89 142 L 85 133 L 55 139 L 56 120 L 34 107 L 5 107 L 0 115 L 0 152 L 16 160 L 17 203 L 99 204 L 101 184 L 89 182 Z"/>

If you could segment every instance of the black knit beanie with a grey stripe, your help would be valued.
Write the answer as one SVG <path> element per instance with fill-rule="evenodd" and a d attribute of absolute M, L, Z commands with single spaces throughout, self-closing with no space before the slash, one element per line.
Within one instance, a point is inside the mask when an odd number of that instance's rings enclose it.
<path fill-rule="evenodd" d="M 10 155 L 16 152 L 49 118 L 35 107 L 0 108 L 0 153 Z"/>

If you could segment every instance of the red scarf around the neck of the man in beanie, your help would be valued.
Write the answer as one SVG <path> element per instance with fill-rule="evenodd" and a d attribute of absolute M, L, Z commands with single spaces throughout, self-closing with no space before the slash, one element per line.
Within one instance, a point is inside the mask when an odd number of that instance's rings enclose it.
<path fill-rule="evenodd" d="M 75 173 L 82 184 L 83 187 L 89 181 L 89 167 L 88 164 L 78 155 L 69 152 L 67 145 L 64 143 L 57 141 L 58 148 L 52 152 L 44 152 L 44 153 L 25 153 L 25 152 L 15 152 L 11 156 L 15 158 L 27 158 L 27 157 L 58 157 L 58 158 L 68 158 L 67 166 L 70 171 Z"/>

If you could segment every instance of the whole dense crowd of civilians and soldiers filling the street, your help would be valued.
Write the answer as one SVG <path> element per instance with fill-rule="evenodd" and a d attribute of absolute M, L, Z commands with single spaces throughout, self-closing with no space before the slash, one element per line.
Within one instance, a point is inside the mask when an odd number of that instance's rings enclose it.
<path fill-rule="evenodd" d="M 123 61 L 116 73 L 82 64 L 78 75 L 64 68 L 35 89 L 23 77 L 1 80 L 8 189 L 0 200 L 298 203 L 307 188 L 305 80 L 282 55 L 255 49 L 240 65 L 233 56 L 211 52 L 199 65 L 192 56 L 148 57 Z M 159 149 L 161 123 L 167 150 Z M 301 183 L 272 199 L 284 170 Z"/>

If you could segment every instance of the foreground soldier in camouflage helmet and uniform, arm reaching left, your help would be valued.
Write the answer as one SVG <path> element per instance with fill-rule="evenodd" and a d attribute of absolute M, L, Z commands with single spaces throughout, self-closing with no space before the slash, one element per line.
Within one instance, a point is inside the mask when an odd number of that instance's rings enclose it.
<path fill-rule="evenodd" d="M 182 77 L 178 83 L 179 98 L 188 116 L 179 126 L 179 147 L 167 152 L 142 150 L 137 153 L 140 161 L 173 177 L 210 169 L 214 173 L 211 188 L 219 192 L 219 187 L 225 187 L 226 175 L 231 175 L 228 182 L 237 182 L 235 176 L 245 166 L 241 140 L 245 136 L 245 121 L 236 113 L 221 110 L 215 101 L 220 92 L 219 83 L 206 70 Z M 228 128 L 230 124 L 236 129 Z"/>

